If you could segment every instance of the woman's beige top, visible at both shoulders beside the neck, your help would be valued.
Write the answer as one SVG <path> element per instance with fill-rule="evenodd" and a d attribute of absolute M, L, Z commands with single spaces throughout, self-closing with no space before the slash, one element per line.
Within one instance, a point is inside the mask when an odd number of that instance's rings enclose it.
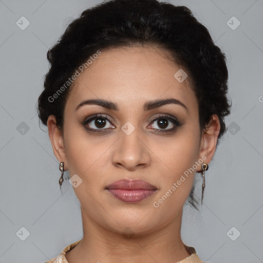
<path fill-rule="evenodd" d="M 66 257 L 65 257 L 65 254 L 73 249 L 75 246 L 77 246 L 77 244 L 81 241 L 82 239 L 78 240 L 77 242 L 74 242 L 70 245 L 68 245 L 67 247 L 65 247 L 61 252 L 60 254 L 57 256 L 57 257 L 54 257 L 52 259 L 50 259 L 49 261 L 46 261 L 44 263 L 68 263 Z M 186 249 L 189 253 L 191 253 L 190 256 L 184 258 L 183 260 L 181 261 L 178 261 L 178 262 L 175 262 L 175 263 L 205 263 L 203 261 L 201 261 L 201 259 L 197 256 L 196 254 L 196 250 L 193 248 L 193 247 L 188 247 L 186 246 Z"/>

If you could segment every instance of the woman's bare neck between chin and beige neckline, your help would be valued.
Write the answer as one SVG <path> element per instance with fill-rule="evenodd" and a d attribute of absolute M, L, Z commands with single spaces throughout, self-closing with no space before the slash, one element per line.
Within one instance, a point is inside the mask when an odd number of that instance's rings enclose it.
<path fill-rule="evenodd" d="M 103 228 L 82 212 L 83 239 L 66 253 L 69 263 L 174 263 L 190 256 L 181 240 L 182 211 L 170 224 L 147 234 L 120 234 Z"/>

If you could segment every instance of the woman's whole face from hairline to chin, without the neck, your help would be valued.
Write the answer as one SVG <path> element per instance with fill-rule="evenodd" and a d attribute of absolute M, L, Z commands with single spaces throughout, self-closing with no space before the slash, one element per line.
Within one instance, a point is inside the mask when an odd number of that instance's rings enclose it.
<path fill-rule="evenodd" d="M 147 233 L 179 220 L 195 171 L 212 158 L 203 148 L 197 98 L 182 72 L 174 77 L 179 69 L 161 49 L 116 48 L 102 51 L 75 81 L 55 154 L 74 176 L 85 220 L 117 233 Z M 151 104 L 165 99 L 177 103 Z M 80 106 L 85 100 L 115 107 Z M 106 189 L 122 179 L 144 180 L 154 190 Z"/>

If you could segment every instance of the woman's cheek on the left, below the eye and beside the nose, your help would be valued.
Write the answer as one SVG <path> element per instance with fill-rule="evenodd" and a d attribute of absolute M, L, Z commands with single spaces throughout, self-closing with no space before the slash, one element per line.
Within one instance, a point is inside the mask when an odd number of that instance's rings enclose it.
<path fill-rule="evenodd" d="M 104 186 L 100 177 L 101 167 L 105 163 L 103 153 L 108 146 L 105 143 L 98 144 L 87 140 L 87 136 L 77 130 L 73 132 L 68 129 L 64 136 L 70 178 L 76 174 L 81 178 L 78 179 L 81 183 L 77 187 L 71 187 L 81 205 L 89 211 L 94 210 L 95 206 L 97 208 L 95 200 L 98 200 L 98 188 Z"/>

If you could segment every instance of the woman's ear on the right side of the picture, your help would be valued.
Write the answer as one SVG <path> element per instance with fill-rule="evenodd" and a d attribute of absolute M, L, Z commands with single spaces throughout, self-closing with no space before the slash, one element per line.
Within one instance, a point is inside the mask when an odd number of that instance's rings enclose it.
<path fill-rule="evenodd" d="M 216 151 L 216 143 L 219 132 L 220 122 L 218 116 L 214 114 L 211 116 L 210 122 L 205 126 L 205 129 L 202 132 L 199 149 L 199 158 L 203 159 L 203 161 L 207 164 L 210 163 Z M 201 165 L 202 163 L 198 165 L 198 172 L 202 171 Z"/>

